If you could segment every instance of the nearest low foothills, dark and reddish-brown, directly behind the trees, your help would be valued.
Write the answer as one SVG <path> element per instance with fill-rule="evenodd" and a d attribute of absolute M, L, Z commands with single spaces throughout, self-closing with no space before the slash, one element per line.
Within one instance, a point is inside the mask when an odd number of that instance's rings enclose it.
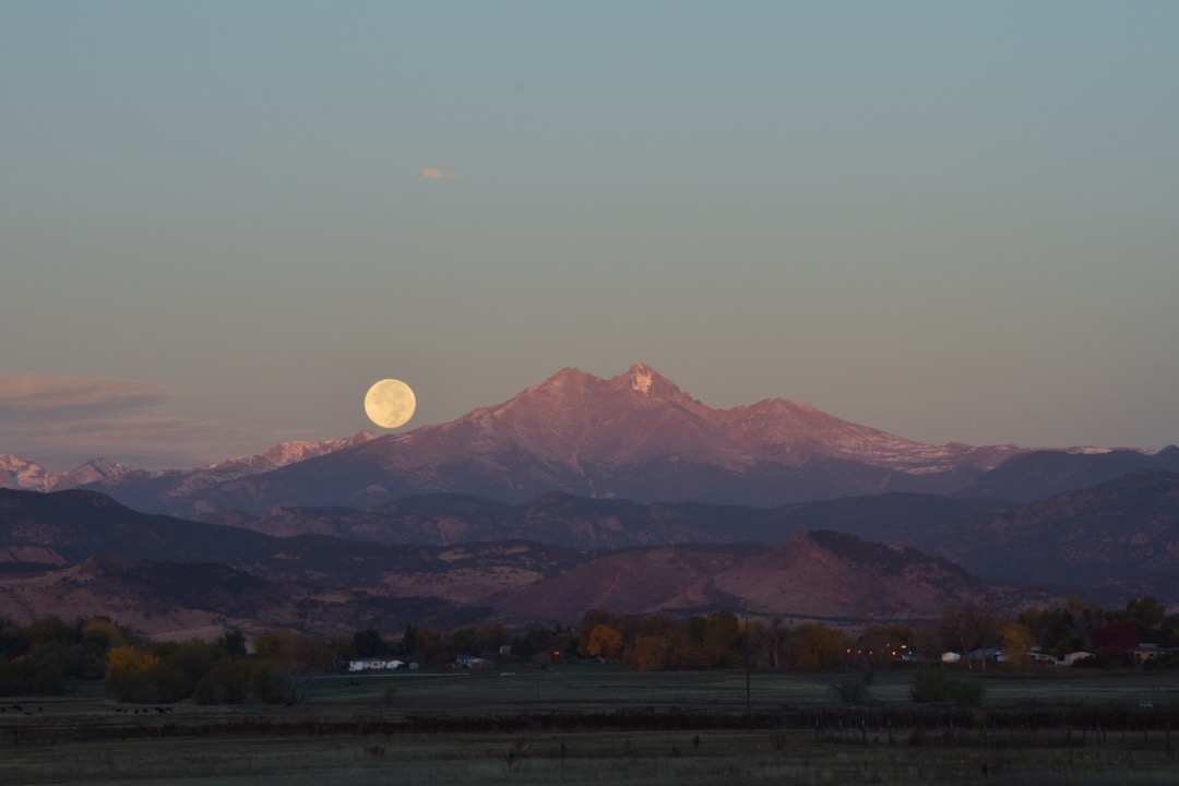
<path fill-rule="evenodd" d="M 522 540 L 377 544 L 141 514 L 92 491 L 0 490 L 0 609 L 22 622 L 106 614 L 180 638 L 276 626 L 391 634 L 408 622 L 571 623 L 590 608 L 922 621 L 947 603 L 1019 608 L 1060 597 L 830 530 L 795 533 L 777 546 L 605 551 Z"/>

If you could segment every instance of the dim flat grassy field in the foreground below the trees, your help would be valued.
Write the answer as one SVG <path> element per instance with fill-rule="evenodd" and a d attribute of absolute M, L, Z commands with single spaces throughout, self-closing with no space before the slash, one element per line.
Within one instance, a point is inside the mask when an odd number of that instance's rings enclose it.
<path fill-rule="evenodd" d="M 0 699 L 0 784 L 1179 781 L 1179 675 L 990 674 L 968 711 L 916 707 L 905 673 L 847 707 L 845 676 L 755 673 L 747 712 L 744 673 L 599 665 L 331 675 L 295 707 L 134 713 L 87 686 Z"/>

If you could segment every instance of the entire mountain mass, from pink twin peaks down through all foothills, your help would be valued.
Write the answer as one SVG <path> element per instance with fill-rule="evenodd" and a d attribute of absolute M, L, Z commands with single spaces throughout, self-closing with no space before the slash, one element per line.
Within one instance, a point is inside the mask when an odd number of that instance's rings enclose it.
<path fill-rule="evenodd" d="M 0 616 L 336 633 L 1179 600 L 1175 473 L 1174 447 L 929 445 L 784 399 L 711 409 L 641 364 L 564 369 L 450 423 L 192 469 L 0 456 Z"/>

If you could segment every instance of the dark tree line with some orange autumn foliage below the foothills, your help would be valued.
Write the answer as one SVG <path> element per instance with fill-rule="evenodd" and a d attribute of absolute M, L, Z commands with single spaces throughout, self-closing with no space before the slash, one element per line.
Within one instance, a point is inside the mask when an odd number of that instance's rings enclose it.
<path fill-rule="evenodd" d="M 788 625 L 733 612 L 673 617 L 591 609 L 577 626 L 508 628 L 490 621 L 456 630 L 413 623 L 400 636 L 375 628 L 335 638 L 289 629 L 252 640 L 230 630 L 215 641 L 151 641 L 105 616 L 73 623 L 45 617 L 20 626 L 0 621 L 0 695 L 54 695 L 79 681 L 103 680 L 120 701 L 166 704 L 298 702 L 316 674 L 350 660 L 397 658 L 427 669 L 450 668 L 460 655 L 500 663 L 614 661 L 641 671 L 747 668 L 818 671 L 889 668 L 940 661 L 941 653 L 977 650 L 963 668 L 1029 668 L 1040 653 L 1054 659 L 1086 652 L 1085 666 L 1131 666 L 1129 649 L 1157 646 L 1151 665 L 1179 665 L 1179 615 L 1153 597 L 1108 610 L 1073 600 L 1029 608 L 1014 619 L 979 605 L 947 608 L 928 626 L 868 625 L 849 634 L 825 622 Z"/>

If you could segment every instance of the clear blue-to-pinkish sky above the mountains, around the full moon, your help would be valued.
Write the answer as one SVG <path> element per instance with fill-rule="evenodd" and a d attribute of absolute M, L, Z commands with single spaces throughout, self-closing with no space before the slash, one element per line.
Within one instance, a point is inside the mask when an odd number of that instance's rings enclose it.
<path fill-rule="evenodd" d="M 0 0 L 0 454 L 189 467 L 565 366 L 1179 442 L 1179 4 Z"/>

